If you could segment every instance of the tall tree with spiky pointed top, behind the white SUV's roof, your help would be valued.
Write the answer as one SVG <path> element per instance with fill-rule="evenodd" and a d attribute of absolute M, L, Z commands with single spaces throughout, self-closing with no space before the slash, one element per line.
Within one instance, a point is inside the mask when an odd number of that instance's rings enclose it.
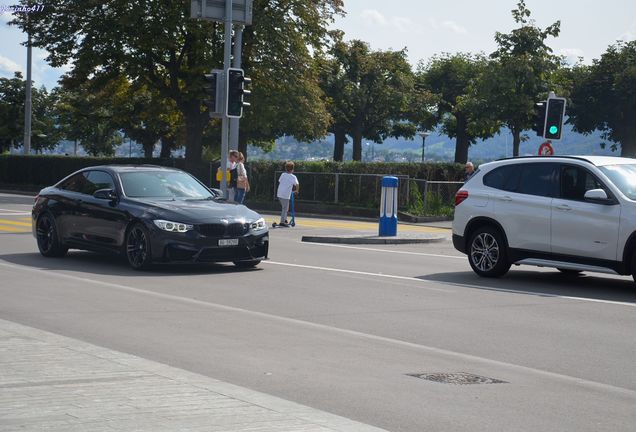
<path fill-rule="evenodd" d="M 541 29 L 530 15 L 525 1 L 519 1 L 512 11 L 519 27 L 495 34 L 499 47 L 490 55 L 494 61 L 476 85 L 485 98 L 483 108 L 510 129 L 514 156 L 519 156 L 521 133 L 532 127 L 535 103 L 547 96 L 551 75 L 559 67 L 559 58 L 545 41 L 559 35 L 561 23 Z"/>

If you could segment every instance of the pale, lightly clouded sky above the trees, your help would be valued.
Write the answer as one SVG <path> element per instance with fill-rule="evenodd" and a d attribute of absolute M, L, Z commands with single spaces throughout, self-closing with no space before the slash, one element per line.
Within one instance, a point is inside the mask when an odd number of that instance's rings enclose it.
<path fill-rule="evenodd" d="M 496 31 L 515 27 L 510 11 L 517 0 L 344 0 L 346 15 L 333 28 L 346 39 L 361 39 L 373 49 L 406 48 L 413 65 L 442 52 L 484 52 L 495 49 Z M 0 77 L 26 70 L 26 40 L 17 28 L 7 26 L 11 15 L 0 0 Z M 34 2 L 36 3 L 36 2 Z M 561 20 L 561 34 L 549 41 L 557 54 L 585 63 L 598 58 L 617 40 L 636 39 L 636 0 L 527 0 L 532 18 L 544 28 Z M 35 85 L 55 86 L 64 68 L 47 65 L 47 53 L 33 52 Z"/>

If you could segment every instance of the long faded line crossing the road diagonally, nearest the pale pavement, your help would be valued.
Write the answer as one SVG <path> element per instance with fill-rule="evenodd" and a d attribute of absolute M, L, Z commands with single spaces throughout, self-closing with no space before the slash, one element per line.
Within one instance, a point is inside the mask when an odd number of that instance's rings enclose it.
<path fill-rule="evenodd" d="M 89 278 L 84 278 L 84 277 L 79 277 L 79 276 L 73 276 L 73 275 L 68 275 L 68 274 L 65 274 L 65 273 L 58 273 L 58 272 L 50 271 L 50 270 L 37 269 L 37 268 L 27 267 L 27 266 L 18 265 L 18 264 L 9 264 L 7 262 L 1 262 L 0 261 L 0 266 L 6 267 L 6 268 L 10 268 L 10 269 L 15 269 L 15 270 L 22 270 L 22 271 L 27 272 L 27 273 L 43 274 L 46 277 L 55 276 L 55 277 L 59 277 L 59 278 L 62 278 L 62 279 L 74 280 L 74 281 L 82 282 L 82 283 L 102 285 L 102 286 L 106 286 L 106 287 L 109 287 L 109 288 L 115 288 L 115 289 L 118 289 L 118 290 L 121 290 L 121 291 L 127 291 L 127 292 L 130 292 L 130 293 L 135 293 L 135 294 L 140 294 L 140 295 L 147 295 L 147 296 L 151 296 L 151 297 L 155 297 L 155 298 L 176 301 L 176 302 L 180 302 L 180 303 L 184 303 L 184 304 L 209 307 L 209 308 L 214 308 L 214 309 L 227 311 L 227 312 L 237 312 L 237 313 L 241 313 L 241 314 L 245 314 L 245 315 L 250 315 L 250 316 L 253 316 L 253 317 L 268 319 L 268 320 L 271 320 L 271 321 L 278 321 L 278 322 L 286 323 L 286 324 L 300 325 L 300 326 L 304 326 L 304 327 L 308 327 L 308 328 L 312 328 L 312 329 L 323 330 L 323 331 L 328 331 L 328 332 L 332 332 L 332 333 L 339 333 L 339 334 L 342 334 L 342 335 L 347 335 L 347 336 L 355 337 L 355 338 L 358 338 L 358 339 L 365 339 L 365 340 L 369 340 L 369 341 L 373 341 L 373 342 L 382 342 L 382 343 L 386 343 L 386 344 L 389 344 L 389 345 L 397 345 L 397 346 L 401 346 L 401 347 L 404 347 L 404 348 L 416 349 L 416 350 L 419 350 L 419 351 L 425 351 L 425 352 L 427 352 L 429 354 L 443 355 L 443 356 L 447 356 L 447 357 L 459 358 L 459 359 L 462 359 L 462 360 L 465 360 L 465 361 L 482 363 L 482 364 L 485 364 L 485 365 L 488 365 L 488 366 L 503 367 L 503 368 L 511 369 L 511 370 L 517 371 L 517 372 L 531 373 L 531 374 L 540 375 L 540 376 L 543 376 L 543 377 L 546 377 L 546 378 L 551 378 L 551 379 L 557 379 L 557 380 L 565 381 L 565 382 L 568 382 L 570 384 L 590 387 L 590 388 L 597 389 L 597 390 L 611 391 L 611 392 L 616 392 L 616 393 L 629 395 L 629 396 L 632 396 L 632 397 L 636 396 L 636 390 L 631 390 L 631 389 L 624 388 L 624 387 L 617 387 L 617 386 L 614 386 L 614 385 L 611 385 L 611 384 L 605 384 L 605 383 L 601 383 L 601 382 L 598 382 L 598 381 L 586 380 L 586 379 L 578 378 L 578 377 L 571 376 L 571 375 L 563 375 L 563 374 L 560 374 L 560 373 L 557 373 L 557 372 L 550 372 L 550 371 L 546 371 L 546 370 L 542 370 L 542 369 L 535 369 L 535 368 L 532 368 L 532 367 L 529 367 L 529 366 L 522 366 L 522 365 L 517 365 L 517 364 L 514 364 L 514 363 L 507 363 L 507 362 L 503 362 L 503 361 L 500 361 L 500 360 L 493 360 L 493 359 L 489 359 L 489 358 L 485 358 L 485 357 L 479 357 L 479 356 L 472 355 L 472 354 L 465 354 L 465 353 L 460 353 L 460 352 L 456 352 L 456 351 L 446 350 L 446 349 L 443 349 L 443 348 L 431 347 L 431 346 L 428 346 L 428 345 L 421 345 L 421 344 L 418 344 L 418 343 L 407 342 L 407 341 L 400 340 L 400 339 L 393 339 L 393 338 L 390 338 L 390 337 L 378 336 L 378 335 L 374 335 L 374 334 L 370 334 L 370 333 L 363 333 L 361 331 L 349 330 L 349 329 L 344 329 L 344 328 L 340 328 L 340 327 L 332 327 L 332 326 L 329 326 L 329 325 L 326 325 L 326 324 L 319 324 L 319 323 L 315 323 L 315 322 L 311 322 L 311 321 L 305 321 L 305 320 L 296 319 L 296 318 L 288 318 L 288 317 L 284 317 L 284 316 L 269 314 L 269 313 L 266 313 L 266 312 L 252 311 L 252 310 L 249 310 L 249 309 L 243 309 L 243 308 L 234 307 L 234 306 L 227 306 L 227 305 L 223 305 L 223 304 L 219 304 L 219 303 L 212 303 L 212 302 L 207 302 L 207 301 L 203 301 L 203 300 L 197 300 L 197 299 L 193 299 L 193 298 L 189 298 L 189 297 L 180 297 L 180 296 L 176 296 L 176 295 L 173 295 L 173 294 L 160 293 L 160 292 L 156 292 L 156 291 L 148 291 L 148 290 L 144 290 L 144 289 L 141 289 L 141 288 L 135 288 L 135 287 L 131 287 L 131 286 L 127 286 L 127 285 L 121 285 L 121 284 L 116 284 L 116 283 L 112 283 L 112 282 L 104 282 L 104 281 L 95 280 L 95 279 L 89 279 Z"/>

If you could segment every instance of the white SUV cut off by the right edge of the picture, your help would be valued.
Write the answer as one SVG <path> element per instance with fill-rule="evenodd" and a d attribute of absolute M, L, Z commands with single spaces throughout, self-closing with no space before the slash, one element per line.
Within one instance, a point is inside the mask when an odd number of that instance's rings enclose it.
<path fill-rule="evenodd" d="M 453 244 L 480 276 L 528 264 L 636 280 L 636 159 L 540 156 L 483 164 L 455 196 Z"/>

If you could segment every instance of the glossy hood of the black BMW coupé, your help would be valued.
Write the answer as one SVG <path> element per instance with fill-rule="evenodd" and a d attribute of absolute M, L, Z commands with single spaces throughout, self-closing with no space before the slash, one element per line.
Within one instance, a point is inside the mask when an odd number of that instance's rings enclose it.
<path fill-rule="evenodd" d="M 150 206 L 148 209 L 157 217 L 190 224 L 215 223 L 221 219 L 228 222 L 237 220 L 255 221 L 260 215 L 240 204 L 231 204 L 208 200 L 152 200 L 135 199 L 138 203 Z"/>

